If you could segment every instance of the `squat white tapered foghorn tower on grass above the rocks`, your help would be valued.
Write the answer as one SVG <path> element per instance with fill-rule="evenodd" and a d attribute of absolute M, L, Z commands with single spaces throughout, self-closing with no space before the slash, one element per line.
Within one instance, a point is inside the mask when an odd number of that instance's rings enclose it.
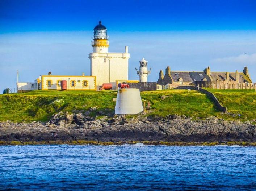
<path fill-rule="evenodd" d="M 139 89 L 118 88 L 115 114 L 138 114 L 142 111 L 143 106 Z"/>

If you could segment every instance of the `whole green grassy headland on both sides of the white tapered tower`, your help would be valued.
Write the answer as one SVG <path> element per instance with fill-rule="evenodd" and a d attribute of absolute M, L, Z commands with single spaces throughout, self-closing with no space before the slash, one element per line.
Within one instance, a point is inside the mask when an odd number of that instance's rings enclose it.
<path fill-rule="evenodd" d="M 228 114 L 219 112 L 207 95 L 188 90 L 162 90 L 142 92 L 143 100 L 152 104 L 151 116 L 169 114 L 191 116 L 202 119 L 209 116 L 222 117 L 227 120 L 253 120 L 256 118 L 256 92 L 254 90 L 210 90 Z M 161 99 L 161 96 L 167 96 Z M 86 111 L 91 107 L 105 114 L 114 114 L 116 91 L 42 91 L 0 95 L 0 121 L 47 121 L 52 114 L 59 111 Z M 238 116 L 240 114 L 241 116 Z"/>

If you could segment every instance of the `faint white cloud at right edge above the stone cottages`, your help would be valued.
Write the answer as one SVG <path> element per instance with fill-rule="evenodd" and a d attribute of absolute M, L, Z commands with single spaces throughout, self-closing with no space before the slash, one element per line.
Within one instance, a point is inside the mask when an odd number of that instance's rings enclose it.
<path fill-rule="evenodd" d="M 213 59 L 212 61 L 214 63 L 222 63 L 222 64 L 256 65 L 256 53 L 240 54 L 238 56 L 217 58 L 217 59 Z"/>

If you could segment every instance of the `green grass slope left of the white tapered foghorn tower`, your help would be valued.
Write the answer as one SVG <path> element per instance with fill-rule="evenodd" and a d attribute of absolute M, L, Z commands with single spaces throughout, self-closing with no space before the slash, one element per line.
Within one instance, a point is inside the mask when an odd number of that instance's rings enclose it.
<path fill-rule="evenodd" d="M 100 110 L 113 110 L 113 97 L 117 92 L 95 91 L 32 91 L 29 93 L 0 96 L 0 121 L 47 121 L 59 111 L 88 110 L 98 107 Z"/>

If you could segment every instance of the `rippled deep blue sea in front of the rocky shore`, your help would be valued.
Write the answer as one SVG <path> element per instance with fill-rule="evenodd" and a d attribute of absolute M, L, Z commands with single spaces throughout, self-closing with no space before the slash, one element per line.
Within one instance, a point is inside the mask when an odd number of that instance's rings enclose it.
<path fill-rule="evenodd" d="M 256 147 L 0 146 L 0 190 L 256 190 Z"/>

